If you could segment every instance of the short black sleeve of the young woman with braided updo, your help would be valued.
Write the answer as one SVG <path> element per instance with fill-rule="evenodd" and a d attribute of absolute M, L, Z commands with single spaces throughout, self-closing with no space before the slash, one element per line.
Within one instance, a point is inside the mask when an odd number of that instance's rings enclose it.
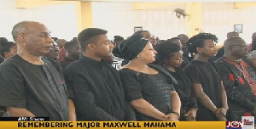
<path fill-rule="evenodd" d="M 201 84 L 201 77 L 199 69 L 194 65 L 189 65 L 185 68 L 185 73 L 189 76 L 191 83 L 199 83 Z"/>

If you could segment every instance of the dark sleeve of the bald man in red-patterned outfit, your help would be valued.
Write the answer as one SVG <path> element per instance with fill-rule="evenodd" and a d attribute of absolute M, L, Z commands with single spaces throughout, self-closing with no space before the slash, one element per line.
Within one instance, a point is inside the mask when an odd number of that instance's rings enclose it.
<path fill-rule="evenodd" d="M 230 80 L 229 76 L 231 75 L 231 72 L 229 68 L 226 65 L 222 65 L 222 64 L 218 64 L 218 66 L 220 68 L 220 76 L 221 78 L 223 78 L 227 97 L 230 98 L 232 101 L 235 101 L 237 104 L 241 104 L 247 107 L 248 109 L 256 109 L 256 104 L 254 104 L 252 101 L 247 99 L 238 89 L 238 87 L 244 87 L 244 86 L 238 86 L 239 84 L 236 84 L 235 81 Z"/>

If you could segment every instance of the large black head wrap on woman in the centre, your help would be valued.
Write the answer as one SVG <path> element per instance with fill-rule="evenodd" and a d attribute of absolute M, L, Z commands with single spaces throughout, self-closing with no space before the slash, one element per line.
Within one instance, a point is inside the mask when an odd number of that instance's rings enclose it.
<path fill-rule="evenodd" d="M 130 36 L 113 48 L 113 55 L 121 59 L 134 59 L 143 51 L 147 43 L 148 40 L 142 35 Z"/>

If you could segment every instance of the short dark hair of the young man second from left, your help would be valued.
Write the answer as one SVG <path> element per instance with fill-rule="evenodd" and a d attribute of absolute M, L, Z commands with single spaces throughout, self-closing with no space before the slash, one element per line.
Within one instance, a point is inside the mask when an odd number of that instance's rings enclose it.
<path fill-rule="evenodd" d="M 81 46 L 82 52 L 85 51 L 86 46 L 89 43 L 96 43 L 100 39 L 100 35 L 107 34 L 108 31 L 100 28 L 87 28 L 79 33 L 78 41 Z"/>

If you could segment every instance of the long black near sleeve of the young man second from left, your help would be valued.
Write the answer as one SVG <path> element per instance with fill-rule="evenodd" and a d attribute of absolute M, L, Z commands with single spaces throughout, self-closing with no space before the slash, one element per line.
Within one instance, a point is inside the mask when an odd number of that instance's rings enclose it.
<path fill-rule="evenodd" d="M 83 121 L 119 121 L 97 106 L 96 98 L 90 91 L 90 84 L 84 80 L 83 76 L 65 70 L 65 79 L 69 90 L 69 98 L 73 99 L 76 114 L 83 118 Z"/>

